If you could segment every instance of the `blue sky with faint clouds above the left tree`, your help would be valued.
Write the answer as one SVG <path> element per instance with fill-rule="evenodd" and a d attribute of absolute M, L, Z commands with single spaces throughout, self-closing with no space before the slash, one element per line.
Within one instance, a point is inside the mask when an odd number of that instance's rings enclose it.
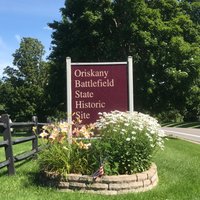
<path fill-rule="evenodd" d="M 22 37 L 36 38 L 49 54 L 52 30 L 48 23 L 60 21 L 65 0 L 0 0 L 0 77 L 12 66 L 12 54 Z"/>

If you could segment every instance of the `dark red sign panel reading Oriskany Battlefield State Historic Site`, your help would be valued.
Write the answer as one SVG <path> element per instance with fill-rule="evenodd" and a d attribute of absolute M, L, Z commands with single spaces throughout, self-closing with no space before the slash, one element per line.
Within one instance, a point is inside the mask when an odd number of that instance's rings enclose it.
<path fill-rule="evenodd" d="M 126 64 L 72 65 L 72 113 L 89 124 L 99 112 L 127 111 L 127 70 Z"/>

